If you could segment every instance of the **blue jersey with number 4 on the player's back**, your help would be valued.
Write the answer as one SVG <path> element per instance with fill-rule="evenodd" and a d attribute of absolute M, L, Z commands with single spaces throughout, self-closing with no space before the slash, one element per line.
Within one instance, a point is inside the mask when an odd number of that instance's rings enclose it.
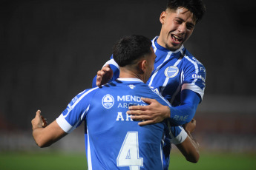
<path fill-rule="evenodd" d="M 72 132 L 85 120 L 85 148 L 88 169 L 163 169 L 163 137 L 182 143 L 187 134 L 168 121 L 139 126 L 127 115 L 128 106 L 147 105 L 154 98 L 169 106 L 162 96 L 137 78 L 119 78 L 102 87 L 76 95 L 57 118 L 65 132 Z"/>

